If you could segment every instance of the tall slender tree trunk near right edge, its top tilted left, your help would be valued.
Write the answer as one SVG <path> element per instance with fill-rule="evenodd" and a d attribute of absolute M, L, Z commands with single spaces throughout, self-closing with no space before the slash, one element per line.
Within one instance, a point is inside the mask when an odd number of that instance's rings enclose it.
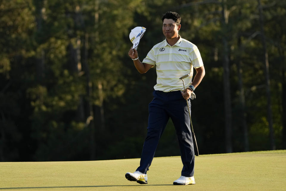
<path fill-rule="evenodd" d="M 268 118 L 268 126 L 269 126 L 269 139 L 270 139 L 270 149 L 275 150 L 275 140 L 273 133 L 273 121 L 272 121 L 272 108 L 271 108 L 271 96 L 270 96 L 270 77 L 269 77 L 269 63 L 268 63 L 268 53 L 266 48 L 266 40 L 264 35 L 264 23 L 262 16 L 262 7 L 260 0 L 258 1 L 258 9 L 259 9 L 259 22 L 260 22 L 260 32 L 262 38 L 263 45 L 263 55 L 264 55 L 264 70 L 265 70 L 265 85 L 266 85 L 266 97 L 267 97 L 267 118 Z"/>

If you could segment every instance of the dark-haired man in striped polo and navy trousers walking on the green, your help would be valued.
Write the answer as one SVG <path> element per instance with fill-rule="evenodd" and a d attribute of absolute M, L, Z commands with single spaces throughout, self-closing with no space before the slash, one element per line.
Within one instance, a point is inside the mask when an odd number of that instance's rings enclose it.
<path fill-rule="evenodd" d="M 157 84 L 154 86 L 154 98 L 149 104 L 148 131 L 140 166 L 135 172 L 126 173 L 125 177 L 129 181 L 147 184 L 147 170 L 153 160 L 158 141 L 171 118 L 178 136 L 183 162 L 181 177 L 173 184 L 195 184 L 195 154 L 186 100 L 191 105 L 189 98 L 202 81 L 205 70 L 198 48 L 178 34 L 181 28 L 181 17 L 178 13 L 167 12 L 163 15 L 162 21 L 166 39 L 156 44 L 143 62 L 139 60 L 137 50 L 132 47 L 128 53 L 139 73 L 146 73 L 156 64 Z M 197 71 L 194 81 L 192 81 L 193 67 Z M 184 88 L 179 78 L 187 73 L 190 75 L 184 80 L 189 87 L 182 91 Z"/>

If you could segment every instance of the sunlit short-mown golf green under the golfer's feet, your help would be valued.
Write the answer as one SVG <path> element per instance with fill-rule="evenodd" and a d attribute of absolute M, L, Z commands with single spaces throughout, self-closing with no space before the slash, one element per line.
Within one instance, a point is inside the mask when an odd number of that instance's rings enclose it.
<path fill-rule="evenodd" d="M 154 158 L 148 184 L 125 179 L 139 158 L 107 161 L 1 162 L 1 190 L 286 190 L 286 150 L 200 155 L 195 185 L 175 186 L 181 158 Z"/>

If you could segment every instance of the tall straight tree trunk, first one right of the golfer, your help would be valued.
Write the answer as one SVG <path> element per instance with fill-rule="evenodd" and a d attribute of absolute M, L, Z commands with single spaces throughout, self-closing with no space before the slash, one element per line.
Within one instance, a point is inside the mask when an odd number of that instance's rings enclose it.
<path fill-rule="evenodd" d="M 223 93 L 224 93 L 224 111 L 225 111 L 225 139 L 226 153 L 232 153 L 232 115 L 231 115 L 231 96 L 229 81 L 229 45 L 226 38 L 228 23 L 228 13 L 225 9 L 224 1 L 222 3 L 222 26 L 223 26 Z"/>

